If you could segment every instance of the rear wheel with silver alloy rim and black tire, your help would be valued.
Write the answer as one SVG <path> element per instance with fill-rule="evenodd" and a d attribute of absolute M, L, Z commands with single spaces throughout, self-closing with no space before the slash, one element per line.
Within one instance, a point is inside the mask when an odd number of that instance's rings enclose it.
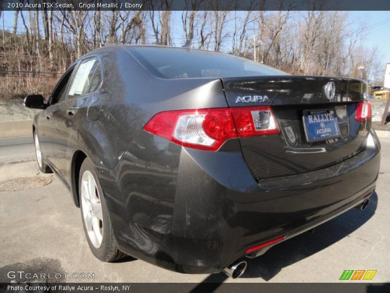
<path fill-rule="evenodd" d="M 126 256 L 117 248 L 104 192 L 89 158 L 83 161 L 78 178 L 81 220 L 92 253 L 104 262 L 113 262 Z"/>

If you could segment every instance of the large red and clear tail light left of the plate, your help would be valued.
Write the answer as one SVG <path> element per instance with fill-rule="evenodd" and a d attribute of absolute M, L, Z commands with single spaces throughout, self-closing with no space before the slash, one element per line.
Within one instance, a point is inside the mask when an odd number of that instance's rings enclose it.
<path fill-rule="evenodd" d="M 279 132 L 269 106 L 157 113 L 143 127 L 181 146 L 217 150 L 230 138 Z"/>

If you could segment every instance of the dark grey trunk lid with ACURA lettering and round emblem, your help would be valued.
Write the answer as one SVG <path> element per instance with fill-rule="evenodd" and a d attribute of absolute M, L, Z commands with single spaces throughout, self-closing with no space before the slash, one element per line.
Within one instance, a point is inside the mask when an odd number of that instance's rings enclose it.
<path fill-rule="evenodd" d="M 222 83 L 230 107 L 272 108 L 278 134 L 240 138 L 244 159 L 259 180 L 330 167 L 365 147 L 370 121 L 360 123 L 355 119 L 357 102 L 363 101 L 366 93 L 363 81 L 276 76 L 223 78 Z M 305 126 L 304 115 L 306 124 L 313 120 L 318 123 Z M 334 122 L 325 119 L 333 116 Z M 327 129 L 337 133 L 321 138 L 321 131 Z M 313 131 L 320 133 L 315 137 Z"/>

